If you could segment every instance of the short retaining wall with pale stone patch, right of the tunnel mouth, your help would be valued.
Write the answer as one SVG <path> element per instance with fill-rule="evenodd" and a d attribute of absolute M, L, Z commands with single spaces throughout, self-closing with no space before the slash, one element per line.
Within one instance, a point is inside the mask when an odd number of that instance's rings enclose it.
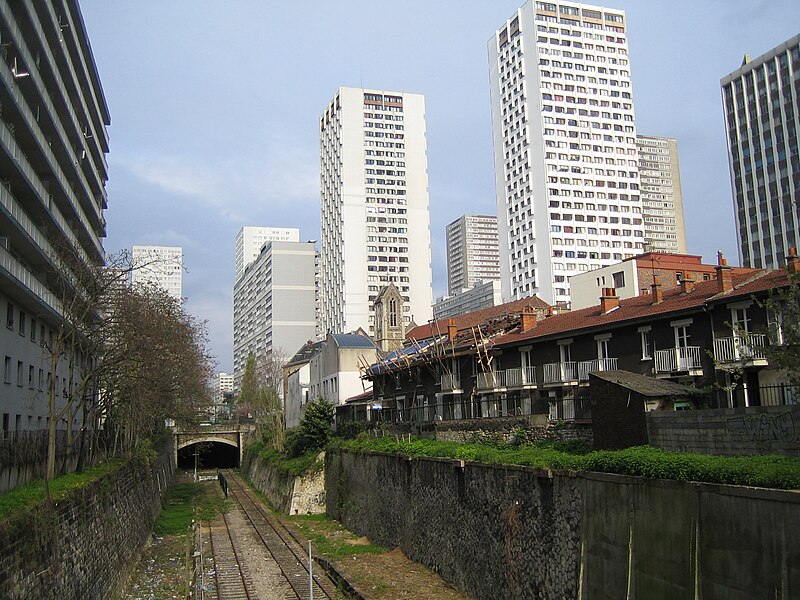
<path fill-rule="evenodd" d="M 242 473 L 267 497 L 275 510 L 288 515 L 325 512 L 325 472 L 322 470 L 295 477 L 245 452 Z"/>

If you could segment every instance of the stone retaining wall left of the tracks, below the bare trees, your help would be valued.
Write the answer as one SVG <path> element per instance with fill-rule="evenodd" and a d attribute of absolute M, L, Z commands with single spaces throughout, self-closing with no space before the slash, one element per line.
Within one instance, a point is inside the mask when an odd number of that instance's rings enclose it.
<path fill-rule="evenodd" d="M 170 438 L 171 442 L 171 438 Z M 127 579 L 175 475 L 171 443 L 149 467 L 130 464 L 76 490 L 55 511 L 0 522 L 0 597 L 95 600 Z"/>

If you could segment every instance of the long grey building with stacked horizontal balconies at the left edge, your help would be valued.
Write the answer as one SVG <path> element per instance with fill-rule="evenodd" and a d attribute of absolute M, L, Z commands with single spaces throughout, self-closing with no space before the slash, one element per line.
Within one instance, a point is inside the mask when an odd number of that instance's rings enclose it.
<path fill-rule="evenodd" d="M 58 5 L 58 9 L 54 6 Z M 0 3 L 0 412 L 2 439 L 49 425 L 80 366 L 48 347 L 64 322 L 56 259 L 103 264 L 110 115 L 76 0 Z M 77 378 L 77 379 L 76 379 Z M 71 423 L 77 428 L 81 415 Z M 57 430 L 67 427 L 59 420 Z"/>

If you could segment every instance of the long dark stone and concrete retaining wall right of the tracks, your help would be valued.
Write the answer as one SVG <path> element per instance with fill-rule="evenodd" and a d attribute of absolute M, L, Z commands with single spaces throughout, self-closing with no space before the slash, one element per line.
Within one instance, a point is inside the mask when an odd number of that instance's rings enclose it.
<path fill-rule="evenodd" d="M 474 598 L 800 597 L 796 492 L 329 454 L 328 514 Z"/>

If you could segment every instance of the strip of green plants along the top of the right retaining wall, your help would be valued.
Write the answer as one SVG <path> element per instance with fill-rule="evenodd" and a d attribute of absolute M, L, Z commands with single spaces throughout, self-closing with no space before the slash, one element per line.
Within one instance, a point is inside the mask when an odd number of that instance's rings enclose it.
<path fill-rule="evenodd" d="M 336 447 L 354 452 L 388 452 L 404 456 L 432 456 L 520 465 L 544 469 L 599 471 L 654 479 L 676 479 L 779 489 L 800 488 L 800 458 L 770 455 L 722 457 L 688 452 L 666 452 L 649 446 L 625 450 L 587 451 L 585 446 L 457 444 L 394 437 L 336 440 Z"/>

